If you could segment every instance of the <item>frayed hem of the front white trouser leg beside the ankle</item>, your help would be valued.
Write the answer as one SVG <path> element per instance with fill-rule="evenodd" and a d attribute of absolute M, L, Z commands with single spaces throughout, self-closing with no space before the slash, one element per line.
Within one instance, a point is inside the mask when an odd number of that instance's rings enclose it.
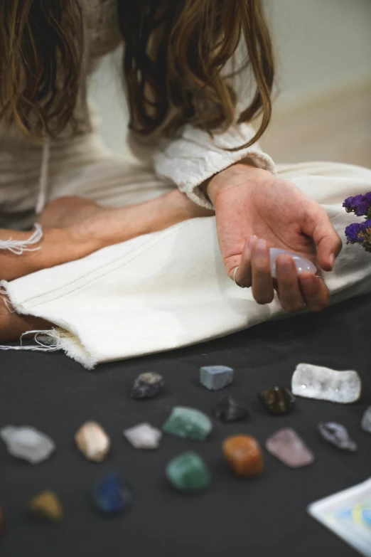
<path fill-rule="evenodd" d="M 8 284 L 5 280 L 0 281 L 0 295 L 3 298 L 4 304 L 6 305 L 9 312 L 26 314 L 26 312 L 23 312 L 21 310 L 21 308 L 16 307 L 14 302 L 11 300 Z M 11 304 L 14 309 L 10 309 L 9 304 Z M 33 340 L 36 342 L 36 346 L 23 346 L 23 337 L 32 334 Z M 63 329 L 63 327 L 26 331 L 21 334 L 19 341 L 20 346 L 9 346 L 4 344 L 0 345 L 0 350 L 23 350 L 37 352 L 55 352 L 63 350 L 66 356 L 77 361 L 78 364 L 81 364 L 89 371 L 92 371 L 92 369 L 97 366 L 97 359 L 95 359 L 92 354 L 87 351 L 78 336 L 68 331 L 67 329 Z"/>

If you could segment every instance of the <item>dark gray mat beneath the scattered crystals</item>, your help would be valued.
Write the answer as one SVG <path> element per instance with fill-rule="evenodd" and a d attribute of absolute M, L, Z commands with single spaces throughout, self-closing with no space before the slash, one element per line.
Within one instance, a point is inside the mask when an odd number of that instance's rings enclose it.
<path fill-rule="evenodd" d="M 62 353 L 0 353 L 0 425 L 28 424 L 53 437 L 55 455 L 33 467 L 6 454 L 0 442 L 0 503 L 6 531 L 2 557 L 350 557 L 355 551 L 306 514 L 308 503 L 370 477 L 371 436 L 360 418 L 371 404 L 371 297 L 358 297 L 320 314 L 270 322 L 206 344 L 141 359 L 106 364 L 90 373 Z M 289 385 L 299 361 L 336 369 L 355 368 L 364 383 L 353 405 L 297 399 L 291 415 L 268 415 L 257 391 Z M 235 368 L 225 391 L 210 393 L 198 383 L 200 366 Z M 127 391 L 138 373 L 154 370 L 166 378 L 160 398 L 134 401 Z M 252 418 L 222 424 L 206 442 L 166 435 L 160 450 L 139 452 L 122 430 L 141 421 L 161 426 L 173 405 L 209 413 L 224 393 L 246 401 Z M 75 430 L 88 419 L 102 423 L 113 450 L 101 465 L 87 462 L 74 447 Z M 347 426 L 360 445 L 340 452 L 319 437 L 321 420 Z M 264 442 L 275 430 L 294 427 L 316 453 L 316 462 L 289 470 L 264 451 L 266 470 L 255 480 L 236 479 L 225 466 L 224 437 L 249 433 Z M 163 478 L 168 460 L 197 450 L 213 473 L 213 487 L 195 497 L 173 492 Z M 117 470 L 134 493 L 134 507 L 122 518 L 104 520 L 87 502 L 90 482 Z M 33 524 L 23 513 L 31 497 L 53 489 L 65 505 L 58 526 Z"/>

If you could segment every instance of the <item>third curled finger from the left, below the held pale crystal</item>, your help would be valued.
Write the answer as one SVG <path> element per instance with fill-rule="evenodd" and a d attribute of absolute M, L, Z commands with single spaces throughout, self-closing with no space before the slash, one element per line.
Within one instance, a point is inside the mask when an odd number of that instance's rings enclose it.
<path fill-rule="evenodd" d="M 276 258 L 276 280 L 282 309 L 286 312 L 297 312 L 303 309 L 305 301 L 299 287 L 296 265 L 290 255 L 279 255 Z"/>

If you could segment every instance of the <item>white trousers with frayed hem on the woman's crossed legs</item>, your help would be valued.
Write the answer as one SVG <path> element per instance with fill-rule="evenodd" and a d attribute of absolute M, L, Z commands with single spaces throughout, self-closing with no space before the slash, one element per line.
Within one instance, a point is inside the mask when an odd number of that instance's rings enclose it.
<path fill-rule="evenodd" d="M 171 187 L 129 165 L 126 178 L 118 182 L 119 157 L 116 160 L 116 166 L 111 160 L 102 168 L 105 190 L 97 187 L 97 167 L 84 171 L 80 190 L 71 182 L 68 188 L 90 198 L 99 192 L 100 201 L 105 194 L 108 205 L 113 196 L 114 204 L 124 205 Z M 371 171 L 327 162 L 278 165 L 276 171 L 323 205 L 344 240 L 334 270 L 324 273 L 331 303 L 370 292 L 371 255 L 360 246 L 345 245 L 345 226 L 357 217 L 346 213 L 342 203 L 371 190 Z M 122 168 L 120 172 L 124 176 Z M 95 185 L 89 176 L 95 176 Z M 126 186 L 120 188 L 120 183 Z M 90 369 L 103 361 L 213 339 L 267 319 L 294 318 L 283 312 L 276 297 L 259 305 L 250 289 L 237 287 L 227 277 L 213 217 L 185 221 L 1 285 L 18 313 L 57 325 L 55 346 Z"/>

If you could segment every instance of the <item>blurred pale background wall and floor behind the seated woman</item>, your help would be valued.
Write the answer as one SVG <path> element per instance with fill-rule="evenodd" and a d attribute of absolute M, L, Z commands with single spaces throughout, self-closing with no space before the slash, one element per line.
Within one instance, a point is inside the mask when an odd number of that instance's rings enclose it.
<path fill-rule="evenodd" d="M 309 138 L 312 143 L 304 142 L 303 149 L 298 149 L 296 142 L 294 153 L 289 139 L 282 139 L 281 131 L 299 125 L 299 122 L 288 120 L 291 107 L 308 102 L 310 105 L 311 99 L 321 105 L 321 97 L 326 96 L 326 92 L 333 95 L 348 90 L 349 105 L 358 107 L 353 120 L 347 122 L 351 128 L 349 132 L 355 136 L 362 127 L 363 148 L 365 141 L 370 141 L 371 150 L 371 129 L 370 136 L 365 138 L 367 119 L 371 122 L 371 104 L 365 102 L 366 93 L 371 99 L 371 0 L 266 0 L 265 5 L 276 46 L 277 95 L 276 117 L 264 147 L 273 149 L 271 154 L 288 161 L 327 158 L 326 153 L 323 154 L 327 142 L 316 147 L 313 132 L 313 138 Z M 119 77 L 120 58 L 120 53 L 107 57 L 92 80 L 93 98 L 102 115 L 102 137 L 114 151 L 125 149 L 126 110 Z M 356 92 L 351 100 L 349 90 Z M 357 97 L 358 90 L 362 90 L 362 98 Z M 334 122 L 341 120 L 342 103 L 338 97 L 338 112 L 332 116 Z M 316 117 L 322 123 L 326 120 L 326 110 L 318 114 L 313 113 L 313 107 L 311 110 L 308 112 L 311 122 Z M 282 127 L 284 122 L 279 119 L 281 113 L 286 127 Z M 329 137 L 335 134 L 334 122 L 323 129 L 325 139 L 326 133 Z M 301 121 L 300 125 L 306 124 Z M 343 142 L 346 140 L 344 138 Z M 346 160 L 345 151 L 344 146 L 338 151 L 335 146 L 328 157 L 345 157 Z M 360 163 L 359 160 L 355 162 Z"/>

